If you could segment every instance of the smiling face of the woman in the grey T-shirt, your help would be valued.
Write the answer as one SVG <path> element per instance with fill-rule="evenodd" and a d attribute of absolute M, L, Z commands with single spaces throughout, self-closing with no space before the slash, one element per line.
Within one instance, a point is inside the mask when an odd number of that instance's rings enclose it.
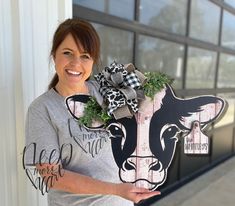
<path fill-rule="evenodd" d="M 82 46 L 77 47 L 71 34 L 68 34 L 57 48 L 54 62 L 60 88 L 70 90 L 84 87 L 94 63 L 90 54 L 84 51 Z"/>

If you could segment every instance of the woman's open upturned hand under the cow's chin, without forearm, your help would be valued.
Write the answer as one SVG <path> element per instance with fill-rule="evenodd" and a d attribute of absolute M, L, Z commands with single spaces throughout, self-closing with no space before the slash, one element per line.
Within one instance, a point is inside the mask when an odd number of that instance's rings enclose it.
<path fill-rule="evenodd" d="M 129 183 L 120 183 L 116 185 L 116 195 L 134 203 L 160 194 L 160 191 L 150 191 L 146 188 L 136 187 Z"/>

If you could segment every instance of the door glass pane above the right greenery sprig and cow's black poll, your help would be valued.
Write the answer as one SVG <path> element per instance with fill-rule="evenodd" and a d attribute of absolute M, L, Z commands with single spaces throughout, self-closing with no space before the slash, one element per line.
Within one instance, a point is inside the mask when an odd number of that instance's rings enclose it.
<path fill-rule="evenodd" d="M 174 78 L 174 88 L 182 88 L 183 45 L 140 35 L 136 65 L 143 71 L 161 71 Z"/>

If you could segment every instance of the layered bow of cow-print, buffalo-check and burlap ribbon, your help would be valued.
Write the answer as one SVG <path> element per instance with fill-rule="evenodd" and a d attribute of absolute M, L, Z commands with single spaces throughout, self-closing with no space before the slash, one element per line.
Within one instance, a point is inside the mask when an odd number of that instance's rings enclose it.
<path fill-rule="evenodd" d="M 99 92 L 108 104 L 110 116 L 113 114 L 118 119 L 132 116 L 138 111 L 138 99 L 144 96 L 141 92 L 144 78 L 142 73 L 136 72 L 133 64 L 113 62 L 94 77 L 100 85 Z"/>

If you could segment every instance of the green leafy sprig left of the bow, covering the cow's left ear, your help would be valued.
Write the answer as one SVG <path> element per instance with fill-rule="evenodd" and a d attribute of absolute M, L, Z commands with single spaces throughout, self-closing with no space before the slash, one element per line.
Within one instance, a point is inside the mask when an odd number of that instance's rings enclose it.
<path fill-rule="evenodd" d="M 107 111 L 97 103 L 94 97 L 91 97 L 84 108 L 84 115 L 79 118 L 79 123 L 89 127 L 93 121 L 106 123 L 110 119 Z"/>

